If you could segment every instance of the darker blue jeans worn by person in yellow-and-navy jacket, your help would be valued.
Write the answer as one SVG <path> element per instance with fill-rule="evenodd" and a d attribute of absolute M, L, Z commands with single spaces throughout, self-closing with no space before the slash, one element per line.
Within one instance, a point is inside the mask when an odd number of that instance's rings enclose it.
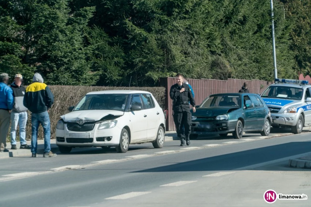
<path fill-rule="evenodd" d="M 49 113 L 47 111 L 31 114 L 31 153 L 37 153 L 38 148 L 38 128 L 39 124 L 42 125 L 44 131 L 44 153 L 49 153 L 51 151 L 51 122 Z"/>

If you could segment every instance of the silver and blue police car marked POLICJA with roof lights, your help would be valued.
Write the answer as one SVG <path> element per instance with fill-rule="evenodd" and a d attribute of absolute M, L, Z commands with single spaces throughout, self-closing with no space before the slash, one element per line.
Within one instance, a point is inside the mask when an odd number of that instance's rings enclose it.
<path fill-rule="evenodd" d="M 270 112 L 272 127 L 290 127 L 299 134 L 311 125 L 311 85 L 306 80 L 275 79 L 262 94 Z"/>

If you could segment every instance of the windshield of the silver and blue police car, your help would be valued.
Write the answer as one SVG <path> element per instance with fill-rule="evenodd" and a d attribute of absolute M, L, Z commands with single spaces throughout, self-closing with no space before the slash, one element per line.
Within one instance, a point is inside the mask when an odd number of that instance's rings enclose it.
<path fill-rule="evenodd" d="M 294 88 L 286 86 L 270 86 L 263 92 L 261 97 L 301 100 L 302 94 L 303 94 L 302 88 Z"/>

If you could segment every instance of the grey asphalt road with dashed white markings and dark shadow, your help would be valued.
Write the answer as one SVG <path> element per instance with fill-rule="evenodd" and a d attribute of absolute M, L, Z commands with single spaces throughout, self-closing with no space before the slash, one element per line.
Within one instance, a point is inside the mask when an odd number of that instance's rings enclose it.
<path fill-rule="evenodd" d="M 246 134 L 203 138 L 190 147 L 133 145 L 124 154 L 89 149 L 1 159 L 0 206 L 263 206 L 268 189 L 311 196 L 310 171 L 286 166 L 290 156 L 311 152 L 310 141 L 310 133 Z M 273 205 L 310 206 L 310 199 Z"/>

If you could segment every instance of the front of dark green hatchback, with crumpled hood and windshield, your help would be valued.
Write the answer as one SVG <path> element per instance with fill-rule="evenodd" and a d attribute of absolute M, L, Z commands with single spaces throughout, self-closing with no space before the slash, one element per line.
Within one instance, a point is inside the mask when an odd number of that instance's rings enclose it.
<path fill-rule="evenodd" d="M 243 114 L 240 95 L 212 95 L 192 113 L 191 134 L 232 133 Z"/>

